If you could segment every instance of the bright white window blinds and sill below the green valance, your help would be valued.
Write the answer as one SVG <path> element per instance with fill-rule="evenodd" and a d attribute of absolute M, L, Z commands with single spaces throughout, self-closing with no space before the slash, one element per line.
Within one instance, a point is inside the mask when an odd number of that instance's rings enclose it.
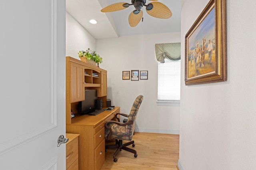
<path fill-rule="evenodd" d="M 180 60 L 158 62 L 157 105 L 179 106 L 180 104 Z"/>

